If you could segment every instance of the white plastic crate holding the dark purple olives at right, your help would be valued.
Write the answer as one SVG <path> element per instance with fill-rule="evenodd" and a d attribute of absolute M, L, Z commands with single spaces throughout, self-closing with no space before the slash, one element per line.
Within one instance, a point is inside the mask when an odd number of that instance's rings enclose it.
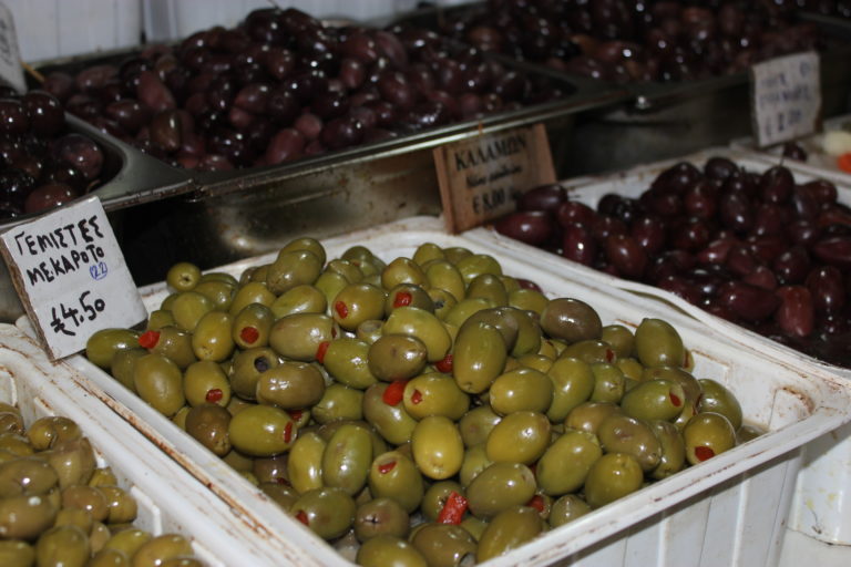
<path fill-rule="evenodd" d="M 742 150 L 709 148 L 674 159 L 642 165 L 621 173 L 570 179 L 564 182 L 564 185 L 568 187 L 572 199 L 596 208 L 599 199 L 607 193 L 638 197 L 660 172 L 675 163 L 688 161 L 701 166 L 707 158 L 714 155 L 730 157 L 742 167 L 756 172 L 762 172 L 775 165 L 773 161 L 765 155 Z M 791 169 L 796 182 L 808 182 L 820 177 L 819 172 L 811 167 L 801 166 L 790 161 L 786 161 L 783 165 Z M 839 200 L 851 204 L 851 176 L 847 176 L 844 184 L 835 181 L 834 183 L 839 188 Z M 485 228 L 471 230 L 466 236 L 476 243 L 485 245 L 490 243 L 496 248 L 510 248 L 515 254 L 526 254 L 529 250 L 534 250 L 530 246 Z M 851 380 L 851 369 L 827 364 L 771 341 L 716 317 L 671 292 L 646 284 L 617 278 L 572 262 L 557 255 L 547 254 L 547 258 L 551 265 L 558 267 L 556 269 L 572 274 L 571 277 L 657 298 L 683 310 L 716 331 L 735 337 L 737 341 L 756 351 L 778 358 L 788 364 L 796 367 L 813 365 L 845 380 Z M 851 382 L 844 383 L 848 384 L 847 388 L 851 389 Z M 808 445 L 804 451 L 803 465 L 796 488 L 794 506 L 789 522 L 790 528 L 831 545 L 851 546 L 851 523 L 848 522 L 851 515 L 851 427 L 833 432 Z M 845 553 L 845 560 L 851 561 L 851 547 L 848 547 Z"/>

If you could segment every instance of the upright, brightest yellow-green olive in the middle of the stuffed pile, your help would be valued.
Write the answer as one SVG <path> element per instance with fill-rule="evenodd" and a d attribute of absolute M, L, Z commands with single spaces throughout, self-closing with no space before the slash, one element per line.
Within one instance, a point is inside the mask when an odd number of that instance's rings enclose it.
<path fill-rule="evenodd" d="M 413 427 L 411 451 L 422 474 L 438 481 L 449 478 L 461 470 L 464 442 L 458 426 L 443 415 L 423 417 Z"/>

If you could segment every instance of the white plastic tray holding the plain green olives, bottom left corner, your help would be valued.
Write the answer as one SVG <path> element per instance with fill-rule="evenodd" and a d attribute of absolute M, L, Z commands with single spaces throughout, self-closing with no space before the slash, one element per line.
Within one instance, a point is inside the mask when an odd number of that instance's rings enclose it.
<path fill-rule="evenodd" d="M 280 565 L 268 534 L 237 517 L 177 463 L 103 405 L 103 392 L 63 363 L 52 363 L 24 332 L 0 323 L 0 401 L 17 404 L 29 425 L 45 415 L 74 420 L 136 499 L 134 524 L 153 535 L 180 533 L 211 567 Z"/>

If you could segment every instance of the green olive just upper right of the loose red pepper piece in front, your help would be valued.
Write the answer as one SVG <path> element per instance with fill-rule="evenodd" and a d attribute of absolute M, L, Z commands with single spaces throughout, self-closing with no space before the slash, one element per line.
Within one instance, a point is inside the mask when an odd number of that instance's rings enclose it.
<path fill-rule="evenodd" d="M 526 465 L 493 463 L 466 487 L 466 499 L 470 512 L 486 519 L 527 503 L 535 489 L 535 475 Z"/>

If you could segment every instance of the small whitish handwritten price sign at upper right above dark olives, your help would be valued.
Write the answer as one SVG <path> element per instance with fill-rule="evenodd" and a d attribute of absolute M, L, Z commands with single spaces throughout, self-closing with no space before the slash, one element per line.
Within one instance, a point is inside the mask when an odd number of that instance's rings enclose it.
<path fill-rule="evenodd" d="M 769 146 L 816 132 L 821 118 L 819 55 L 798 53 L 751 68 L 757 145 Z"/>

